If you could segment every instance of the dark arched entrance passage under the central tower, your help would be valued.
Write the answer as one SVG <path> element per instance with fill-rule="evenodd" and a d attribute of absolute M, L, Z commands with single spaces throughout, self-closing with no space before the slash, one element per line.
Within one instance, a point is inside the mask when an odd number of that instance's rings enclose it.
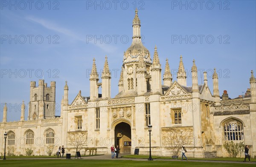
<path fill-rule="evenodd" d="M 115 127 L 115 146 L 119 145 L 120 153 L 131 154 L 131 126 L 121 122 Z"/>

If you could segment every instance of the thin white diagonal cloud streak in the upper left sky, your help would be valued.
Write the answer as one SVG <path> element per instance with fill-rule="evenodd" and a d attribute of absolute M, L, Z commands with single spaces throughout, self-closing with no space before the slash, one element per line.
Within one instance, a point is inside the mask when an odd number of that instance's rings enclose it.
<path fill-rule="evenodd" d="M 93 44 L 93 45 L 99 47 L 100 49 L 102 49 L 104 52 L 113 53 L 117 50 L 117 48 L 115 46 L 111 46 L 110 44 L 94 43 L 93 40 L 86 41 L 84 38 L 81 38 L 81 35 L 74 33 L 70 29 L 65 29 L 62 26 L 59 26 L 56 23 L 53 23 L 49 20 L 44 20 L 44 19 L 36 18 L 36 17 L 32 17 L 32 16 L 26 17 L 26 20 L 32 21 L 34 23 L 38 23 L 41 26 L 43 26 L 49 30 L 53 30 L 55 32 L 62 33 L 64 35 L 72 37 L 75 40 L 80 40 L 84 43 L 87 42 L 87 43 Z"/>

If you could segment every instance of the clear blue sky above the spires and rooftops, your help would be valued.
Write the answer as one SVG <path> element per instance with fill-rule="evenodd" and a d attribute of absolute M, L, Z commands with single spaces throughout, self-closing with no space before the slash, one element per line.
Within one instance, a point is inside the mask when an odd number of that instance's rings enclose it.
<path fill-rule="evenodd" d="M 0 121 L 20 119 L 20 104 L 29 102 L 30 81 L 56 81 L 56 115 L 60 115 L 65 81 L 69 103 L 79 90 L 90 95 L 93 58 L 98 72 L 108 56 L 111 97 L 118 93 L 123 52 L 131 45 L 132 20 L 139 9 L 144 46 L 153 59 L 154 46 L 162 64 L 169 58 L 174 81 L 180 55 L 189 70 L 195 59 L 198 75 L 217 69 L 219 90 L 231 98 L 250 88 L 256 71 L 256 1 L 4 1 L 0 0 Z M 12 38 L 12 39 L 10 39 Z M 183 40 L 180 40 L 182 38 Z M 254 73 L 255 75 L 255 73 Z M 198 82 L 202 79 L 198 77 Z M 28 105 L 26 105 L 26 115 Z"/>

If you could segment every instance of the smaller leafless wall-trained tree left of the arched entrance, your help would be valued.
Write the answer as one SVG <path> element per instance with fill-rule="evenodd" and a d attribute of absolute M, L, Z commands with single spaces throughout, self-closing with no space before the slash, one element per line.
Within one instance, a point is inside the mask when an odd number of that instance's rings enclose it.
<path fill-rule="evenodd" d="M 76 152 L 87 146 L 87 132 L 69 132 L 69 145 L 76 148 Z"/>

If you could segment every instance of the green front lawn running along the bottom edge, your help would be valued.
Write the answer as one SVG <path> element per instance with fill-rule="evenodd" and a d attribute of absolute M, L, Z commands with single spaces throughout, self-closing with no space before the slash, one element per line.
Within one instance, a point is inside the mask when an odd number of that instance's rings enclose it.
<path fill-rule="evenodd" d="M 191 162 L 191 161 L 132 161 L 132 160 L 84 160 L 84 159 L 22 159 L 1 160 L 0 167 L 241 167 L 241 164 Z M 243 167 L 255 167 L 255 164 L 242 164 Z"/>

